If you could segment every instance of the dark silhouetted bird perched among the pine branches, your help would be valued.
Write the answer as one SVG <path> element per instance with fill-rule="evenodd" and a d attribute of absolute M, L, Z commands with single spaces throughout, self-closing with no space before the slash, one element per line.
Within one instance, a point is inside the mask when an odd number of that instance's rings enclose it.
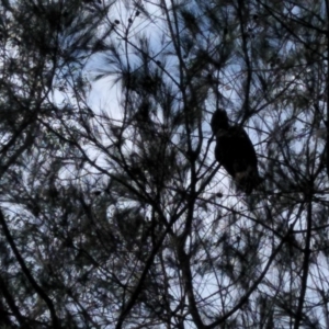
<path fill-rule="evenodd" d="M 239 125 L 230 125 L 227 113 L 217 109 L 211 122 L 216 138 L 215 158 L 232 177 L 238 190 L 250 194 L 261 182 L 253 145 Z"/>

